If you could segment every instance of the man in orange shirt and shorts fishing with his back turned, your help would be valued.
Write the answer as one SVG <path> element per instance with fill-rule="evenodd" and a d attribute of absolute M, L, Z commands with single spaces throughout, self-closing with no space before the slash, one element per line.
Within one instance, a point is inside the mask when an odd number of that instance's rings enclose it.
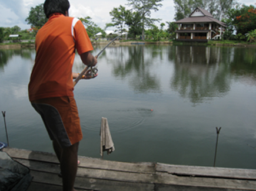
<path fill-rule="evenodd" d="M 75 50 L 87 66 L 97 59 L 82 22 L 68 16 L 68 0 L 46 0 L 44 12 L 48 22 L 36 35 L 35 65 L 28 92 L 29 101 L 41 115 L 54 151 L 58 156 L 63 190 L 74 191 L 77 174 L 78 145 L 82 131 L 74 100 L 72 73 Z"/>

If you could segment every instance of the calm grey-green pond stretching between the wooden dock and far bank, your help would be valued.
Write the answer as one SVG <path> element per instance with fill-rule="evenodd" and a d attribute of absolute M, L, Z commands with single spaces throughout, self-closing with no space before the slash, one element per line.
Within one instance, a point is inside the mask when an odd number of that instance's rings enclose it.
<path fill-rule="evenodd" d="M 10 146 L 53 152 L 28 101 L 34 59 L 33 49 L 0 50 L 0 109 Z M 74 71 L 82 69 L 76 55 Z M 84 134 L 79 155 L 101 157 L 106 117 L 115 151 L 104 159 L 213 166 L 221 127 L 216 166 L 256 169 L 256 48 L 116 45 L 101 54 L 98 70 L 74 90 Z"/>

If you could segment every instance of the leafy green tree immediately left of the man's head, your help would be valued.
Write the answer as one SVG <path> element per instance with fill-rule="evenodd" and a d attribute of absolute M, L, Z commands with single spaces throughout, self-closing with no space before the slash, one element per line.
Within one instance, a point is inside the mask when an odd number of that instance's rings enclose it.
<path fill-rule="evenodd" d="M 48 21 L 44 13 L 44 4 L 31 7 L 25 21 L 31 25 L 31 28 L 41 28 Z"/>

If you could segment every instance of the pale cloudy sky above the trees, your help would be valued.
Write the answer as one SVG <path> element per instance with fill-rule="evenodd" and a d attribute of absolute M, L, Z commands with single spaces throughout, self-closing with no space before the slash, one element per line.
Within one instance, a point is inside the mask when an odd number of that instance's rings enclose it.
<path fill-rule="evenodd" d="M 241 4 L 256 6 L 256 0 L 238 0 Z M 25 19 L 28 17 L 31 7 L 44 3 L 44 0 L 0 0 L 0 27 L 13 27 L 19 26 L 22 30 L 29 29 Z M 104 29 L 106 23 L 111 22 L 111 16 L 109 12 L 113 8 L 118 8 L 120 5 L 127 6 L 127 0 L 69 0 L 71 7 L 69 9 L 69 16 L 77 18 L 85 18 L 90 16 L 92 21 L 96 23 L 100 28 Z M 162 6 L 159 11 L 151 11 L 151 18 L 162 19 L 155 25 L 159 26 L 160 23 L 173 22 L 175 9 L 174 2 L 172 0 L 163 0 Z"/>

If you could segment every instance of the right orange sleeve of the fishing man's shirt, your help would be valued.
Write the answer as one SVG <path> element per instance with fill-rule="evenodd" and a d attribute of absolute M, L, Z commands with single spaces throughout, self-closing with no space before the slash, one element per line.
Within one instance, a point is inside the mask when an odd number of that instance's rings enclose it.
<path fill-rule="evenodd" d="M 82 22 L 79 20 L 74 26 L 75 47 L 79 55 L 94 50 L 91 40 Z"/>

